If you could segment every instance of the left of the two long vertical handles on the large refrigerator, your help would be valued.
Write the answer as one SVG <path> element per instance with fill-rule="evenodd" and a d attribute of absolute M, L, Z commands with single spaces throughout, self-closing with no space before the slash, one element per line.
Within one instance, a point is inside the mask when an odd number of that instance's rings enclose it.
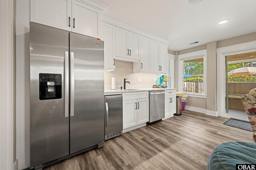
<path fill-rule="evenodd" d="M 68 117 L 69 113 L 69 57 L 68 51 L 65 51 L 65 117 Z"/>

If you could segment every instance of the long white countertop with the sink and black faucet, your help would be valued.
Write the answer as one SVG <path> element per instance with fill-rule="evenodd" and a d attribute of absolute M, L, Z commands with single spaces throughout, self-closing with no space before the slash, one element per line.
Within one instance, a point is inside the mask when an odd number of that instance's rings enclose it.
<path fill-rule="evenodd" d="M 136 88 L 136 90 L 105 90 L 105 95 L 122 94 L 122 93 L 134 93 L 134 92 L 148 92 L 157 90 L 176 90 L 176 88 Z"/>

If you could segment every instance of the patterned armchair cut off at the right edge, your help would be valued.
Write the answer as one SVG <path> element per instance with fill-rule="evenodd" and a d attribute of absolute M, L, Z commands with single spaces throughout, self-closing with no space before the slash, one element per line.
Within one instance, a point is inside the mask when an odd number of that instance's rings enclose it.
<path fill-rule="evenodd" d="M 252 89 L 247 95 L 241 96 L 244 109 L 253 130 L 253 139 L 256 141 L 256 88 Z"/>

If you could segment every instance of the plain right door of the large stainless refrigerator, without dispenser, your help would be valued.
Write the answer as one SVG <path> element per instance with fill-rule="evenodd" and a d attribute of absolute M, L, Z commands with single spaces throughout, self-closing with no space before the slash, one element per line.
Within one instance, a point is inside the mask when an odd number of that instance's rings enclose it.
<path fill-rule="evenodd" d="M 72 154 L 104 142 L 104 42 L 70 33 L 70 53 L 74 55 L 74 70 L 70 69 Z"/>

